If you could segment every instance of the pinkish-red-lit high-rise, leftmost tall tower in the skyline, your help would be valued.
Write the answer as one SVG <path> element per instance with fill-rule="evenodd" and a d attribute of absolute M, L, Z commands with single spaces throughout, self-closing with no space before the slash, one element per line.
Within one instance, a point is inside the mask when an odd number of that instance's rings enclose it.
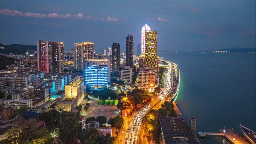
<path fill-rule="evenodd" d="M 37 42 L 37 71 L 51 73 L 52 70 L 52 42 L 39 40 Z"/>

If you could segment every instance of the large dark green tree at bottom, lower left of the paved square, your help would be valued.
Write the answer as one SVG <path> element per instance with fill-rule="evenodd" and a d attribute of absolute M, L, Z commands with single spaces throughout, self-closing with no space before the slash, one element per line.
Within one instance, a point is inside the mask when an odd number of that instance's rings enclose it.
<path fill-rule="evenodd" d="M 74 112 L 66 112 L 64 111 L 60 115 L 59 120 L 59 132 L 60 132 L 60 139 L 65 143 L 68 139 L 76 137 L 79 128 L 81 127 L 80 124 L 80 114 Z"/>

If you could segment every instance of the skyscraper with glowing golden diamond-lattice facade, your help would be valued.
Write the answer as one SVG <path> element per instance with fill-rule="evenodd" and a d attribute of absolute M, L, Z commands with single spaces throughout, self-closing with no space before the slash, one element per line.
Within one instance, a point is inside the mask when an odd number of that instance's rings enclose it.
<path fill-rule="evenodd" d="M 157 56 L 157 32 L 145 32 L 145 64 L 150 68 L 156 70 L 156 56 Z"/>

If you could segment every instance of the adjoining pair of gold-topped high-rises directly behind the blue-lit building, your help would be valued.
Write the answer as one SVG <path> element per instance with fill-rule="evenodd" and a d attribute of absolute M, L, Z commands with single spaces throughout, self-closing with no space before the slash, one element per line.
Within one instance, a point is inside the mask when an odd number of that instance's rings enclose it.
<path fill-rule="evenodd" d="M 74 68 L 83 70 L 83 61 L 86 59 L 94 59 L 94 43 L 74 43 L 73 53 Z"/>

